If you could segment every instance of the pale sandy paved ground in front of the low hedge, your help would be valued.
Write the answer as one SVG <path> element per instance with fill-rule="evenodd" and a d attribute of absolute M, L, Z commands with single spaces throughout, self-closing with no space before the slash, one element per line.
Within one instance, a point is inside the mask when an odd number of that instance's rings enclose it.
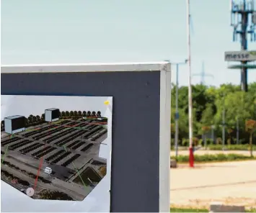
<path fill-rule="evenodd" d="M 256 160 L 172 168 L 170 201 L 181 207 L 222 201 L 256 208 Z"/>

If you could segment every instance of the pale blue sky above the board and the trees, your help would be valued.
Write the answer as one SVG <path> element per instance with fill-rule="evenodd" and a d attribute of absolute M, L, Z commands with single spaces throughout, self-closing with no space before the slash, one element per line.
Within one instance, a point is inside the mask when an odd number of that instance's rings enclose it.
<path fill-rule="evenodd" d="M 185 0 L 2 0 L 1 63 L 88 63 L 187 58 Z M 191 0 L 192 71 L 206 83 L 239 83 L 224 51 L 232 42 L 229 0 Z M 256 43 L 249 43 L 251 50 Z M 172 81 L 175 81 L 175 72 Z M 248 81 L 256 80 L 250 71 Z M 193 83 L 200 77 L 194 76 Z M 187 66 L 180 66 L 187 84 Z"/>

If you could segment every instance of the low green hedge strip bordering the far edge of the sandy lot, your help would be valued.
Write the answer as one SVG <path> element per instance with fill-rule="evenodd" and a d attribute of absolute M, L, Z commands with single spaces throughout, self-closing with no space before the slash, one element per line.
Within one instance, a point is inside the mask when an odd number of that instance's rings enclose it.
<path fill-rule="evenodd" d="M 237 154 L 216 154 L 216 155 L 195 155 L 195 162 L 211 162 L 211 161 L 234 161 L 234 160 L 250 160 L 256 159 L 255 157 L 250 157 L 247 155 L 237 155 Z M 178 163 L 187 163 L 189 161 L 189 155 L 179 155 L 177 158 L 175 156 L 171 157 L 177 160 Z"/>

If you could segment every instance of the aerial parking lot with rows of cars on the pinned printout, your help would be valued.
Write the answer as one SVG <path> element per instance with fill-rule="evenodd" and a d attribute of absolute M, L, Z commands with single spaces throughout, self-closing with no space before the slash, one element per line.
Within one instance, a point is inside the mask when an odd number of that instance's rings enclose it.
<path fill-rule="evenodd" d="M 106 173 L 106 119 L 70 117 L 1 131 L 1 180 L 33 199 L 83 200 Z"/>

